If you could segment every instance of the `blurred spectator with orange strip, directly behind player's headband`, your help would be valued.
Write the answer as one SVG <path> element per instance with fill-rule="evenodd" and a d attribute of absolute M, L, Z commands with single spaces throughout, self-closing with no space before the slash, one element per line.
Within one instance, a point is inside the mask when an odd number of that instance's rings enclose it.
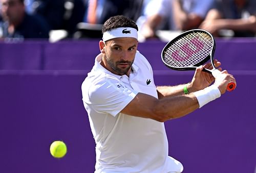
<path fill-rule="evenodd" d="M 103 23 L 115 15 L 124 15 L 137 20 L 141 14 L 143 0 L 84 0 L 86 12 L 83 22 L 78 24 L 75 38 L 100 38 Z"/>

